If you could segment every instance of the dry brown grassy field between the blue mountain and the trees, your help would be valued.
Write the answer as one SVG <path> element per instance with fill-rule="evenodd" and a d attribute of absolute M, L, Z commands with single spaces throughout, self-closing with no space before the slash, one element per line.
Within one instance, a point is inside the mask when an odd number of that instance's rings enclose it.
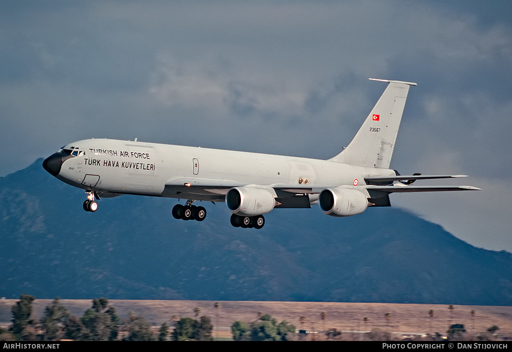
<path fill-rule="evenodd" d="M 40 318 L 50 299 L 36 299 L 34 315 Z M 0 300 L 0 326 L 10 325 L 11 307 L 16 300 Z M 163 301 L 163 300 L 111 300 L 121 317 L 129 312 L 144 317 L 155 327 L 163 322 L 172 325 L 173 315 L 195 318 L 194 309 L 200 307 L 200 316 L 207 315 L 215 326 L 215 337 L 231 337 L 230 326 L 234 321 L 254 321 L 258 313 L 270 314 L 278 320 L 287 320 L 297 329 L 307 331 L 325 331 L 336 328 L 344 335 L 357 335 L 355 332 L 380 329 L 390 332 L 394 338 L 412 334 L 445 334 L 450 323 L 464 324 L 468 334 L 477 335 L 487 328 L 497 325 L 499 336 L 512 336 L 512 306 L 454 305 L 452 313 L 448 305 L 441 304 L 393 304 L 393 303 L 337 303 L 337 302 L 262 302 L 262 301 L 218 301 L 218 315 L 214 308 L 215 301 Z M 90 299 L 62 299 L 73 315 L 81 317 L 91 307 Z M 434 316 L 429 317 L 429 311 Z M 475 315 L 471 315 L 475 311 Z M 320 314 L 325 312 L 326 319 Z M 389 320 L 386 314 L 389 313 Z M 305 317 L 301 324 L 300 317 Z M 365 322 L 364 318 L 368 318 Z M 356 339 L 356 337 L 354 337 Z"/>

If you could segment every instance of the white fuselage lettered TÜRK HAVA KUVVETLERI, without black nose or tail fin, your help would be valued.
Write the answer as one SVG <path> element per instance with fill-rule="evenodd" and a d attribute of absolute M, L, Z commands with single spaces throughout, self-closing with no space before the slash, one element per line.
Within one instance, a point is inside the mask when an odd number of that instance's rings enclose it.
<path fill-rule="evenodd" d="M 219 189 L 236 186 L 296 188 L 297 193 L 308 189 L 307 193 L 315 193 L 311 190 L 362 186 L 365 177 L 395 175 L 389 169 L 326 160 L 145 142 L 90 139 L 71 143 L 65 149 L 71 146 L 85 155 L 63 162 L 57 178 L 98 194 L 221 200 L 219 195 L 225 191 Z M 361 191 L 365 192 L 362 187 Z"/>

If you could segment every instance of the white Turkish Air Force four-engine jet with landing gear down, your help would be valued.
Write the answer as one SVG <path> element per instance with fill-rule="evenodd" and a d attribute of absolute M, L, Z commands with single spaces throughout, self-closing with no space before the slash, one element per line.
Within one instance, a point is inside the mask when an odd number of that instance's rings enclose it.
<path fill-rule="evenodd" d="M 372 79 L 372 78 L 371 78 Z M 278 208 L 311 208 L 343 217 L 368 207 L 391 206 L 395 192 L 479 190 L 472 186 L 413 186 L 417 180 L 465 175 L 400 175 L 391 157 L 410 86 L 388 86 L 352 142 L 328 160 L 267 155 L 112 139 L 88 139 L 61 147 L 43 162 L 57 179 L 86 190 L 83 209 L 95 212 L 96 199 L 122 194 L 186 200 L 177 219 L 203 221 L 196 201 L 224 202 L 234 227 L 261 229 L 263 214 Z"/>

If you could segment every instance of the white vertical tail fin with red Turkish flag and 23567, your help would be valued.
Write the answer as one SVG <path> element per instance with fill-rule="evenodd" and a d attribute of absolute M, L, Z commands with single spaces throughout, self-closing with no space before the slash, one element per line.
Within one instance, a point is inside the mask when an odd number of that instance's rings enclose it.
<path fill-rule="evenodd" d="M 329 160 L 387 169 L 393 155 L 409 87 L 416 83 L 370 79 L 388 82 L 388 87 L 357 131 L 352 142 L 337 156 Z"/>

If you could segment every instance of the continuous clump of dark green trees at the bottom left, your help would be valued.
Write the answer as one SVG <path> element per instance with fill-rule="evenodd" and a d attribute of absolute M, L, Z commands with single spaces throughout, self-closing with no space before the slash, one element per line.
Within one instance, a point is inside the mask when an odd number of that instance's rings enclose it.
<path fill-rule="evenodd" d="M 207 316 L 199 320 L 181 318 L 176 328 L 163 323 L 155 334 L 151 324 L 131 312 L 126 319 L 119 319 L 116 309 L 106 298 L 92 300 L 92 306 L 78 318 L 55 298 L 45 307 L 40 320 L 32 318 L 32 302 L 35 297 L 23 294 L 12 307 L 12 325 L 7 331 L 0 330 L 0 341 L 168 341 L 212 340 L 211 320 Z"/>

